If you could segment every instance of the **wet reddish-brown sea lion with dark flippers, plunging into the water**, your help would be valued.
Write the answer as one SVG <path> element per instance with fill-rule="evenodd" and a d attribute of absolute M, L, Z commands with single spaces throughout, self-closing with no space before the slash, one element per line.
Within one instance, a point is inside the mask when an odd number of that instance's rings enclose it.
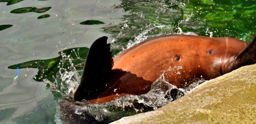
<path fill-rule="evenodd" d="M 158 36 L 114 59 L 106 42 L 103 36 L 91 45 L 81 83 L 74 91 L 76 101 L 105 103 L 126 94 L 144 94 L 161 74 L 169 83 L 185 88 L 197 79 L 214 79 L 256 63 L 256 36 L 249 45 L 230 37 Z"/>

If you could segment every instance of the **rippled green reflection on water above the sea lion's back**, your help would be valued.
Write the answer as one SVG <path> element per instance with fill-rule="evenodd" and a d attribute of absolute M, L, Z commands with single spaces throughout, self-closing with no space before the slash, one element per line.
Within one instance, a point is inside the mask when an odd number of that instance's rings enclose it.
<path fill-rule="evenodd" d="M 129 14 L 121 24 L 103 27 L 113 35 L 114 53 L 118 53 L 130 41 L 135 41 L 143 31 L 145 36 L 193 31 L 199 36 L 242 38 L 249 42 L 256 32 L 256 4 L 254 0 L 122 0 L 116 8 Z M 160 26 L 161 28 L 155 28 Z"/>

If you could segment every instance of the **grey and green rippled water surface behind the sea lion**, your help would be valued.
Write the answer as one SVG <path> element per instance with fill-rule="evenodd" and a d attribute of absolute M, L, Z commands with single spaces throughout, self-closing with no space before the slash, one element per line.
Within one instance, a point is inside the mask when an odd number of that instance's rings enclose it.
<path fill-rule="evenodd" d="M 249 42 L 255 19 L 256 0 L 0 0 L 0 123 L 55 123 L 66 96 L 42 79 L 54 81 L 60 50 L 108 36 L 116 55 L 136 41 L 186 32 Z M 87 48 L 81 59 L 71 55 L 77 71 Z"/>

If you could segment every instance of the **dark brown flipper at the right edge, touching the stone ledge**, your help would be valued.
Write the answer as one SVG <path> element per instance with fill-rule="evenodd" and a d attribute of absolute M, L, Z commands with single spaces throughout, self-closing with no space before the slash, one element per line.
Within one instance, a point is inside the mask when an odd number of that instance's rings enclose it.
<path fill-rule="evenodd" d="M 256 34 L 243 51 L 239 52 L 226 62 L 222 72 L 223 74 L 229 73 L 239 67 L 255 64 L 256 63 Z"/>

